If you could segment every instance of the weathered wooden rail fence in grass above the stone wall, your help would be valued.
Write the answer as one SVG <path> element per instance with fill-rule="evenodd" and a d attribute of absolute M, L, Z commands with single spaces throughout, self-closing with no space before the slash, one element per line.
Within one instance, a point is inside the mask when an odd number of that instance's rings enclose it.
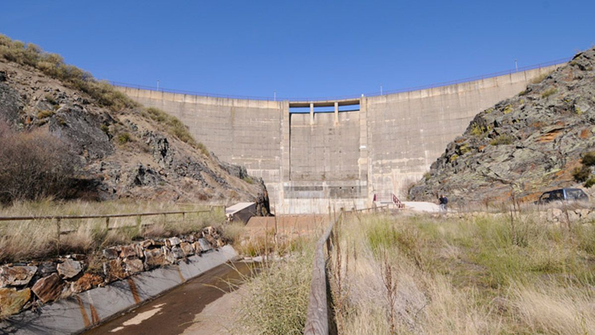
<path fill-rule="evenodd" d="M 61 222 L 64 220 L 78 220 L 78 219 L 105 219 L 105 229 L 120 229 L 126 227 L 142 227 L 141 218 L 143 216 L 156 216 L 156 215 L 163 215 L 164 219 L 167 215 L 180 215 L 182 216 L 182 221 L 186 218 L 187 214 L 195 214 L 195 213 L 209 213 L 212 212 L 217 207 L 222 207 L 223 205 L 209 205 L 209 209 L 205 210 L 177 210 L 171 212 L 148 212 L 148 213 L 123 213 L 123 214 L 90 214 L 90 215 L 39 215 L 39 216 L 0 216 L 0 221 L 43 221 L 43 220 L 50 220 L 55 221 L 56 224 L 56 234 L 58 240 L 60 240 L 60 235 L 70 234 L 75 230 L 62 230 L 61 229 Z M 129 217 L 136 217 L 136 225 L 128 225 L 128 226 L 120 226 L 120 227 L 109 227 L 109 219 L 111 218 L 129 218 Z M 146 224 L 145 224 L 146 225 Z"/>

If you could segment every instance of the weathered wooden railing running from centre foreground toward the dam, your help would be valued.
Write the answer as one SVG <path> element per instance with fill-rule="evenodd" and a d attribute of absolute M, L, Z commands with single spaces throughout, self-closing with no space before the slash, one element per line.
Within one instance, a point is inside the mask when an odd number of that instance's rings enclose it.
<path fill-rule="evenodd" d="M 383 208 L 388 209 L 388 206 L 370 207 L 364 209 L 354 209 L 349 211 L 341 211 L 335 220 L 331 220 L 327 229 L 325 229 L 322 236 L 316 243 L 314 251 L 314 268 L 312 269 L 312 281 L 310 283 L 310 294 L 308 298 L 308 311 L 306 312 L 306 325 L 304 327 L 304 334 L 326 335 L 328 334 L 330 315 L 330 306 L 328 303 L 327 291 L 327 263 L 330 259 L 330 252 L 333 250 L 333 235 L 334 228 L 337 222 L 342 220 L 347 213 L 356 212 L 376 212 Z M 326 245 L 327 253 L 324 253 L 324 246 Z"/>

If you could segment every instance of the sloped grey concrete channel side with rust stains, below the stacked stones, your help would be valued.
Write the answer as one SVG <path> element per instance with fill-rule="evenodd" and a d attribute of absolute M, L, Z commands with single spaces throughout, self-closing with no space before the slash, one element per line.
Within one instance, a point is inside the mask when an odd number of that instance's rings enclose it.
<path fill-rule="evenodd" d="M 0 333 L 73 334 L 100 324 L 237 257 L 231 246 L 84 291 L 0 322 Z"/>

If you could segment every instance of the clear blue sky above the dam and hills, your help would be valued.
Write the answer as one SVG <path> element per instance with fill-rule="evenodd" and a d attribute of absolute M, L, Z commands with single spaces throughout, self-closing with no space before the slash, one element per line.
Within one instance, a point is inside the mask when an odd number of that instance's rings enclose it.
<path fill-rule="evenodd" d="M 0 33 L 99 79 L 333 97 L 569 57 L 595 1 L 3 1 Z"/>

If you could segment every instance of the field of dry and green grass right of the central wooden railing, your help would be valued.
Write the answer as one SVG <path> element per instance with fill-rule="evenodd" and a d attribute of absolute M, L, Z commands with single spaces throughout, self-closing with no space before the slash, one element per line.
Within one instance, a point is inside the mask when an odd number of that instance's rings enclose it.
<path fill-rule="evenodd" d="M 340 334 L 595 333 L 592 222 L 351 216 L 338 235 Z"/>

